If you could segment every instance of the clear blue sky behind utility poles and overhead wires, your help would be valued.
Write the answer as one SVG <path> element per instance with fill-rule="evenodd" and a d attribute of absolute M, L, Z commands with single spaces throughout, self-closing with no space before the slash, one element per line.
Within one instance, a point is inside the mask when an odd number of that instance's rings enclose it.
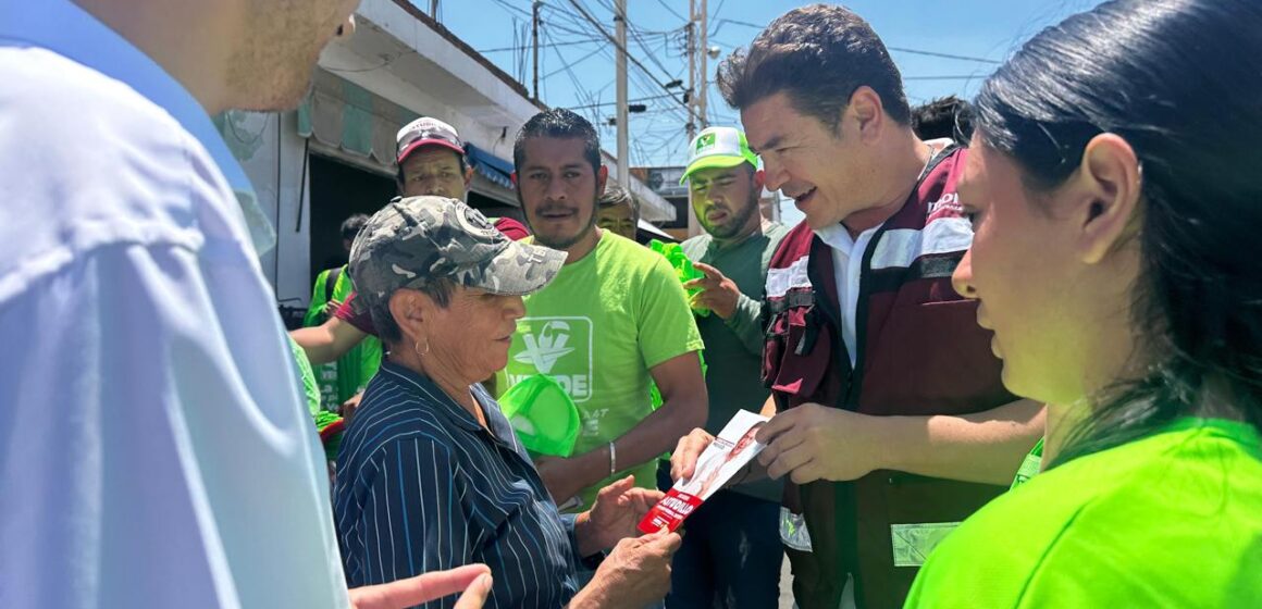
<path fill-rule="evenodd" d="M 602 125 L 602 144 L 615 148 L 615 131 L 604 125 L 613 116 L 613 47 L 574 8 L 575 3 L 612 34 L 612 0 L 545 0 L 540 37 L 540 97 L 550 106 L 577 107 Z M 711 45 L 726 57 L 748 44 L 771 19 L 800 6 L 784 0 L 708 0 Z M 414 0 L 423 10 L 428 0 Z M 945 95 L 972 96 L 997 63 L 1047 25 L 1087 10 L 1097 0 L 852 0 L 847 6 L 867 19 L 891 48 L 912 105 Z M 439 20 L 509 74 L 530 86 L 530 0 L 440 0 Z M 687 111 L 665 97 L 661 83 L 687 83 L 683 26 L 688 0 L 627 0 L 631 55 L 630 98 L 646 100 L 647 112 L 631 115 L 631 160 L 635 165 L 684 163 Z M 502 49 L 502 50 L 501 50 Z M 895 50 L 907 49 L 907 50 Z M 916 53 L 921 52 L 921 53 Z M 974 58 L 952 59 L 923 54 L 944 53 Z M 717 61 L 711 61 L 709 71 Z M 738 125 L 718 91 L 709 90 L 709 119 L 714 125 Z M 675 90 L 676 98 L 679 90 Z M 597 106 L 599 105 L 599 106 Z M 791 209 L 791 206 L 789 206 Z M 795 211 L 791 211 L 795 212 Z M 790 216 L 793 214 L 790 212 Z M 786 218 L 789 219 L 789 218 Z"/>

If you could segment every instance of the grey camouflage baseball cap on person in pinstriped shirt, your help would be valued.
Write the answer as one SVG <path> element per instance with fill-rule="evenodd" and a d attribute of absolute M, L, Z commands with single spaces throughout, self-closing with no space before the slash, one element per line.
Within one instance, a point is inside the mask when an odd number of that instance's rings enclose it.
<path fill-rule="evenodd" d="M 370 306 L 439 277 L 526 295 L 548 285 L 564 264 L 565 252 L 512 241 L 477 209 L 444 197 L 391 200 L 351 247 L 351 279 Z"/>

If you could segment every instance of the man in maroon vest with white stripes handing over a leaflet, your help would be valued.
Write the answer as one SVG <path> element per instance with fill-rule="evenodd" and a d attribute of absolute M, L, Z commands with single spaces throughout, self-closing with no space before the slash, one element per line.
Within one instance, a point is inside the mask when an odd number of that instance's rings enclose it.
<path fill-rule="evenodd" d="M 916 137 L 885 44 L 840 6 L 780 16 L 717 81 L 766 188 L 805 216 L 767 271 L 775 416 L 753 472 L 787 478 L 805 518 L 809 540 L 782 530 L 795 600 L 901 606 L 924 556 L 1042 432 L 1041 406 L 1003 390 L 977 303 L 952 287 L 973 238 L 955 192 L 967 151 Z M 712 440 L 681 440 L 673 475 Z"/>

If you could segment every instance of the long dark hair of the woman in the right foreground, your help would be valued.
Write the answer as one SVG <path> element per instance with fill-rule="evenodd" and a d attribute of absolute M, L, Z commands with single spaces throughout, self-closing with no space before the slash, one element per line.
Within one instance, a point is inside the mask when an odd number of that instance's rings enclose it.
<path fill-rule="evenodd" d="M 983 145 L 1031 193 L 1064 184 L 1104 132 L 1142 168 L 1131 310 L 1142 373 L 1090 396 L 1049 467 L 1182 416 L 1262 429 L 1259 32 L 1257 0 L 1104 3 L 1042 30 L 977 96 Z"/>

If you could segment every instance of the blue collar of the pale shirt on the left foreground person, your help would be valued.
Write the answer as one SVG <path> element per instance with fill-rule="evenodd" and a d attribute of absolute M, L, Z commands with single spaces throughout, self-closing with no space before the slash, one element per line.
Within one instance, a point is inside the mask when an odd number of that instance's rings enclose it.
<path fill-rule="evenodd" d="M 232 156 L 206 108 L 162 66 L 69 0 L 0 0 L 0 47 L 38 47 L 122 82 L 165 110 L 215 160 L 237 197 L 242 224 L 259 253 L 275 245 L 275 231 L 259 209 L 254 187 Z M 83 100 L 83 103 L 91 103 Z M 246 222 L 249 218 L 249 222 Z M 266 226 L 259 226 L 259 221 Z"/>

